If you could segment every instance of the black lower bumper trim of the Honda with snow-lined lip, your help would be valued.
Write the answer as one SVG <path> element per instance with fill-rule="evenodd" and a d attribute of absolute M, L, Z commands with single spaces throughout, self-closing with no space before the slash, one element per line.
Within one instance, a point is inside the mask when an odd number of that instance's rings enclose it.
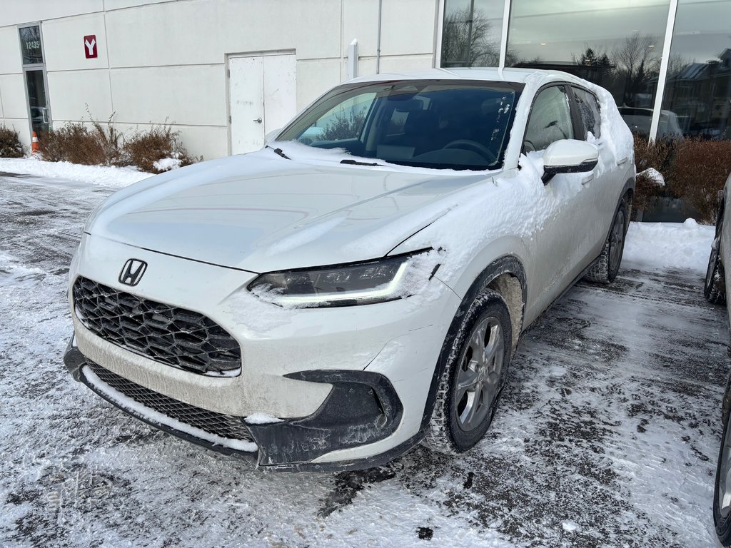
<path fill-rule="evenodd" d="M 268 469 L 371 468 L 387 463 L 422 438 L 418 433 L 406 443 L 374 457 L 313 462 L 335 450 L 380 441 L 396 430 L 404 407 L 393 385 L 379 373 L 320 370 L 292 374 L 292 378 L 333 386 L 322 406 L 300 419 L 247 424 L 244 417 L 196 408 L 117 376 L 86 359 L 75 346 L 74 338 L 69 340 L 64 364 L 76 381 L 148 425 L 223 454 L 249 458 L 257 452 L 257 464 Z"/>

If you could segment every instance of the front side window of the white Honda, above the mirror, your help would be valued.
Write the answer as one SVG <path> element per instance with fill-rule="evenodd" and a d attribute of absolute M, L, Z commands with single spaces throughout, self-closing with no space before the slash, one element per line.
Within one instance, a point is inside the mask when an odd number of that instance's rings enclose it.
<path fill-rule="evenodd" d="M 533 103 L 523 150 L 542 151 L 554 141 L 573 138 L 571 109 L 564 86 L 545 88 Z"/>

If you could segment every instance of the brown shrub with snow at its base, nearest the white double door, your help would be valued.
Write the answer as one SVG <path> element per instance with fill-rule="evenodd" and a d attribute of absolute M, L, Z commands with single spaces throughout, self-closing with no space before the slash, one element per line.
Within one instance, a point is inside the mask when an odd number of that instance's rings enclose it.
<path fill-rule="evenodd" d="M 191 156 L 180 140 L 180 132 L 173 132 L 170 126 L 153 126 L 151 129 L 138 131 L 127 137 L 122 146 L 126 159 L 140 171 L 162 173 L 160 160 L 175 160 L 175 167 L 194 164 L 201 159 Z M 169 168 L 168 168 L 169 169 Z"/>

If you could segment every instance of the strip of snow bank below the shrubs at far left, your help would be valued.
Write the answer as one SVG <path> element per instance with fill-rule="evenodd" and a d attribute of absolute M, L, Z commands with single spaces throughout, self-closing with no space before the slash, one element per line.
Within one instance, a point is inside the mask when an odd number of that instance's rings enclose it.
<path fill-rule="evenodd" d="M 30 158 L 0 158 L 0 172 L 78 180 L 102 186 L 128 186 L 151 177 L 134 167 L 82 166 L 69 161 L 42 161 Z"/>

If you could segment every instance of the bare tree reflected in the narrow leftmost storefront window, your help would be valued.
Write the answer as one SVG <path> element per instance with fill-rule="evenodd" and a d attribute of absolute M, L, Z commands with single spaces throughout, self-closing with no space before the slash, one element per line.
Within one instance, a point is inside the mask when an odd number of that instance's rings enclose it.
<path fill-rule="evenodd" d="M 496 66 L 500 50 L 492 26 L 478 9 L 455 9 L 444 16 L 443 66 Z"/>

